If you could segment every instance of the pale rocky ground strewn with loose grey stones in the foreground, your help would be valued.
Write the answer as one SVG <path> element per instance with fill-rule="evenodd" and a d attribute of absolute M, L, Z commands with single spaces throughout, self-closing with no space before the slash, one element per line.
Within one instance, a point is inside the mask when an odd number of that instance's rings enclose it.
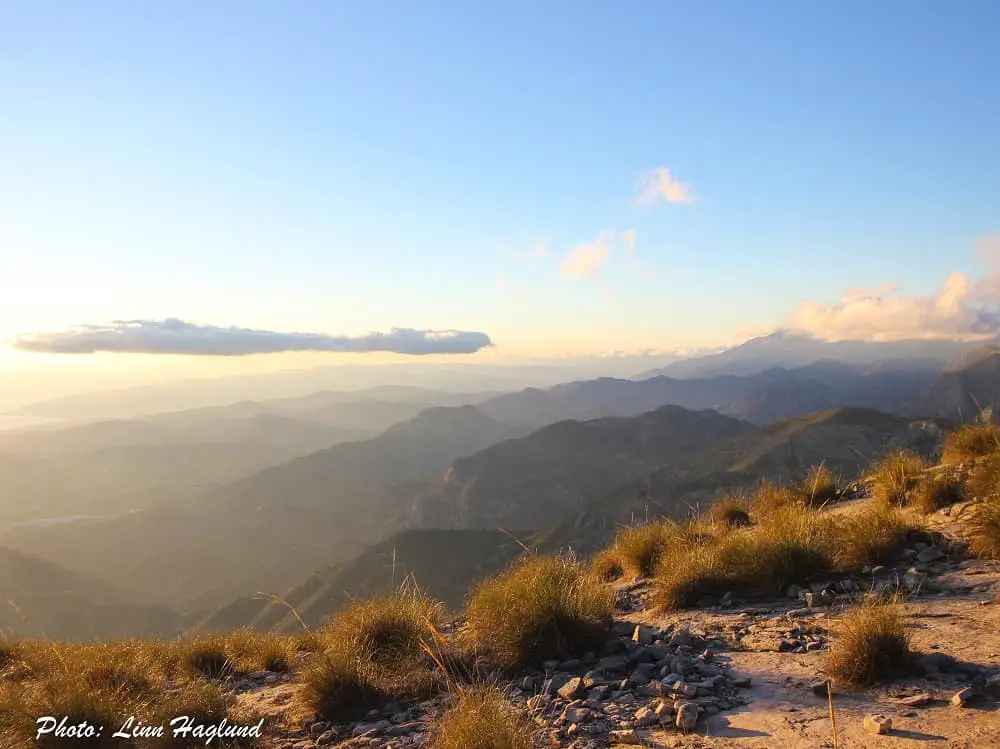
<path fill-rule="evenodd" d="M 603 652 L 504 686 L 534 717 L 539 747 L 1000 746 L 1000 563 L 964 558 L 951 530 L 965 511 L 934 516 L 933 543 L 914 544 L 893 567 L 792 586 L 780 599 L 724 596 L 660 617 L 647 581 L 621 586 Z M 822 673 L 830 624 L 871 591 L 903 594 L 921 657 L 905 679 L 835 690 L 835 742 Z M 331 726 L 303 712 L 298 688 L 294 676 L 266 673 L 237 685 L 236 699 L 276 719 L 271 746 L 418 747 L 446 707 L 444 698 L 389 705 Z"/>

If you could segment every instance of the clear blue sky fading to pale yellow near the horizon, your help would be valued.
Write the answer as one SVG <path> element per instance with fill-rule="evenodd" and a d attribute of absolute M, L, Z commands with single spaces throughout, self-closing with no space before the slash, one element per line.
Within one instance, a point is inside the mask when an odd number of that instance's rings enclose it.
<path fill-rule="evenodd" d="M 814 332 L 932 309 L 962 333 L 996 301 L 998 28 L 992 0 L 8 3 L 0 337 L 180 318 L 632 351 L 807 300 Z M 693 202 L 637 200 L 654 169 Z M 601 237 L 606 263 L 560 272 Z M 973 290 L 941 311 L 953 273 Z"/>

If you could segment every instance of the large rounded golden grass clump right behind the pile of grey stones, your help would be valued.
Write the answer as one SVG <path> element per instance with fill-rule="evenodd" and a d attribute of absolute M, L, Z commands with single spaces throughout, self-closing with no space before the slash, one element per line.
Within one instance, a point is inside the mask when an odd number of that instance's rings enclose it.
<path fill-rule="evenodd" d="M 466 607 L 471 644 L 505 667 L 599 648 L 613 593 L 567 557 L 528 555 L 478 583 Z"/>

